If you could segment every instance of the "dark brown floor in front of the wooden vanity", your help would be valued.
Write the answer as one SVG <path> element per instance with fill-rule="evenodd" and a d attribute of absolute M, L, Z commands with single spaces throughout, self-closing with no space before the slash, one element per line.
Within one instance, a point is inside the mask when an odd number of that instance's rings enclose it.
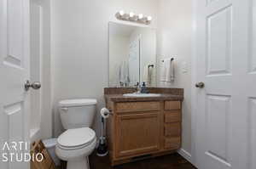
<path fill-rule="evenodd" d="M 189 161 L 186 161 L 177 153 L 151 158 L 143 161 L 136 161 L 120 166 L 110 166 L 108 156 L 98 157 L 90 155 L 90 169 L 196 169 Z"/>

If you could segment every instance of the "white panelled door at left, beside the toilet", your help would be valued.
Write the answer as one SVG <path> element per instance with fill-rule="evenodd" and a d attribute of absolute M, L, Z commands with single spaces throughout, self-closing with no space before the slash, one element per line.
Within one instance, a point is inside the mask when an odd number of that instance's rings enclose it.
<path fill-rule="evenodd" d="M 19 162 L 29 150 L 29 0 L 0 1 L 0 168 L 27 169 Z M 19 144 L 15 143 L 20 142 Z M 26 142 L 27 144 L 25 144 Z M 8 143 L 9 149 L 4 146 Z M 15 146 L 15 147 L 13 147 Z M 26 146 L 28 149 L 26 149 Z M 29 151 L 28 151 L 29 152 Z M 3 154 L 6 153 L 5 158 Z M 14 155 L 11 155 L 14 153 Z M 16 158 L 19 155 L 19 158 Z M 12 158 L 11 158 L 12 156 Z M 19 161 L 17 161 L 17 159 Z M 23 157 L 24 160 L 24 157 Z M 23 161 L 22 160 L 22 161 Z"/>

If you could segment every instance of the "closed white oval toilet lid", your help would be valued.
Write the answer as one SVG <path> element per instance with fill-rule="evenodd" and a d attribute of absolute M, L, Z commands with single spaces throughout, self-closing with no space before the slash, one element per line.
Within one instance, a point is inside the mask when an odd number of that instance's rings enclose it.
<path fill-rule="evenodd" d="M 68 129 L 58 138 L 58 144 L 64 147 L 76 147 L 89 144 L 96 137 L 96 133 L 89 127 Z"/>

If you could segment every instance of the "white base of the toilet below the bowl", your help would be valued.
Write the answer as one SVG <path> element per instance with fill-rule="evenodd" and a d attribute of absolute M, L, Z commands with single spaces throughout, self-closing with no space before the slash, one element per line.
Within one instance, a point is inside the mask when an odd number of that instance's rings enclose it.
<path fill-rule="evenodd" d="M 67 161 L 67 169 L 90 169 L 88 156 L 80 157 L 74 161 Z"/>

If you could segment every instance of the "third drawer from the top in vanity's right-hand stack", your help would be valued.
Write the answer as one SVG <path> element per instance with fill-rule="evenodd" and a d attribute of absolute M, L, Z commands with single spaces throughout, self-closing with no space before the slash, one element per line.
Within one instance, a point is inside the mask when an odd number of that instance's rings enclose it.
<path fill-rule="evenodd" d="M 180 137 L 181 135 L 181 123 L 174 122 L 165 124 L 165 136 L 166 137 Z"/>

